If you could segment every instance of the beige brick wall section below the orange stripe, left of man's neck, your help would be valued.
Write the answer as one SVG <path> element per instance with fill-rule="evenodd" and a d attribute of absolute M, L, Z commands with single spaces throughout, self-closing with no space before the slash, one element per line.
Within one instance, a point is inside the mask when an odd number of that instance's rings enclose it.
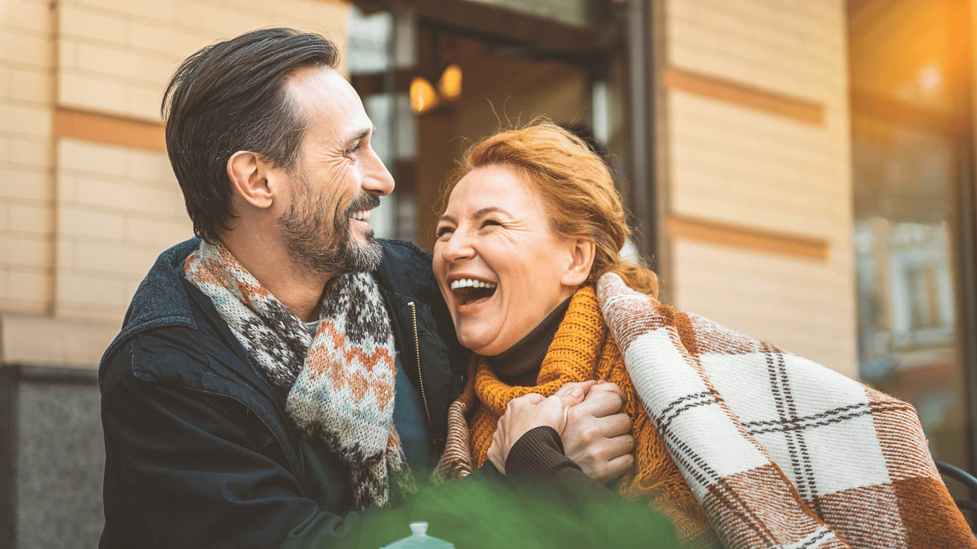
<path fill-rule="evenodd" d="M 160 251 L 192 235 L 166 154 L 58 143 L 55 315 L 118 324 Z"/>

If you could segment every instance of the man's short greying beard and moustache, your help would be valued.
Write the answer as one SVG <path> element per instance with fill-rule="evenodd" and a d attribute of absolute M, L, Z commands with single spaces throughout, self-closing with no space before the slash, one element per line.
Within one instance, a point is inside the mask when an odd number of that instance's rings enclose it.
<path fill-rule="evenodd" d="M 313 190 L 304 177 L 296 176 L 294 181 L 292 204 L 278 218 L 278 228 L 294 261 L 315 274 L 368 273 L 376 269 L 383 259 L 383 249 L 373 238 L 372 229 L 365 233 L 365 243 L 357 242 L 350 231 L 350 216 L 379 206 L 380 198 L 361 194 L 344 212 L 339 211 L 337 201 L 330 220 L 325 196 Z"/>

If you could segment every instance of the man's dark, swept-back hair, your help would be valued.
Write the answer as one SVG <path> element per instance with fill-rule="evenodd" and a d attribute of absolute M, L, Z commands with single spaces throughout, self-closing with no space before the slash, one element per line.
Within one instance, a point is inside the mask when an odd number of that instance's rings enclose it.
<path fill-rule="evenodd" d="M 338 62 L 336 45 L 324 36 L 262 28 L 207 46 L 177 68 L 161 113 L 170 164 L 197 236 L 216 242 L 229 229 L 227 164 L 234 152 L 252 150 L 284 169 L 295 165 L 308 123 L 286 80 L 299 68 Z"/>

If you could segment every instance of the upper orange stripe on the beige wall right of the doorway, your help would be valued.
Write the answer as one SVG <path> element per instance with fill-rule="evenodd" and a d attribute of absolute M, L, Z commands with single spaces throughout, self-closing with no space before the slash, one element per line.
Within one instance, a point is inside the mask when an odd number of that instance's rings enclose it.
<path fill-rule="evenodd" d="M 763 110 L 806 124 L 825 125 L 825 106 L 717 76 L 668 66 L 665 87 L 747 108 Z"/>

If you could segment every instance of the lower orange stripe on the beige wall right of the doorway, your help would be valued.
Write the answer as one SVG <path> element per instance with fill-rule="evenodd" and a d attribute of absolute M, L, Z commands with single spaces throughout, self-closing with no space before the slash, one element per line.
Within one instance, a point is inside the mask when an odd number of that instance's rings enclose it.
<path fill-rule="evenodd" d="M 685 216 L 670 216 L 668 233 L 672 237 L 722 246 L 828 261 L 828 240 L 824 238 L 765 231 Z"/>

